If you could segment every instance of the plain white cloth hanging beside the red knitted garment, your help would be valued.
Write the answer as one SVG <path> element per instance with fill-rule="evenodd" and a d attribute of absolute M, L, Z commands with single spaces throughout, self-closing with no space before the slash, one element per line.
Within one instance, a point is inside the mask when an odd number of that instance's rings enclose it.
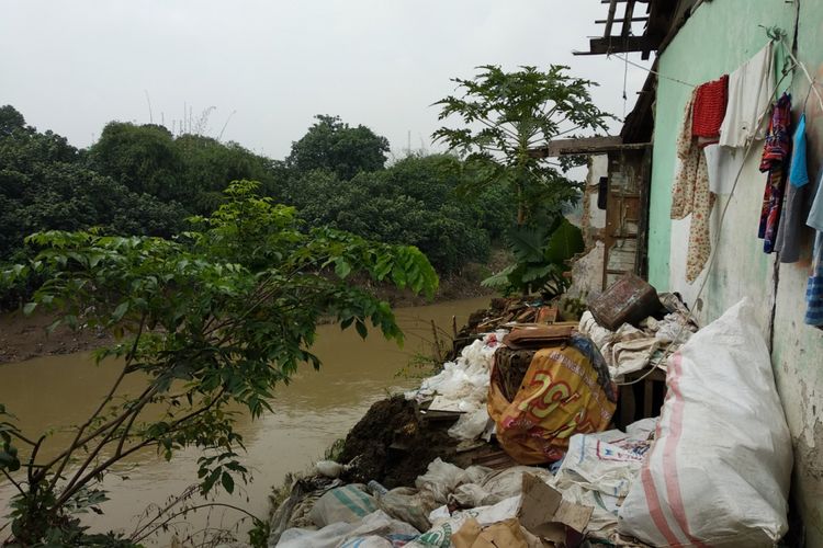
<path fill-rule="evenodd" d="M 762 139 L 765 114 L 775 93 L 773 43 L 729 76 L 729 104 L 720 126 L 720 145 L 743 148 Z"/>

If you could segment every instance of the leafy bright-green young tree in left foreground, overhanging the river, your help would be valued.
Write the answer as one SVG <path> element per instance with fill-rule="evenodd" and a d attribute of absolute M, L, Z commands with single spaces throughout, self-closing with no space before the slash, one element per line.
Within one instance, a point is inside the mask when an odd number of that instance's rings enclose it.
<path fill-rule="evenodd" d="M 300 364 L 319 367 L 311 346 L 322 319 L 354 326 L 363 338 L 371 323 L 403 340 L 388 304 L 347 279 L 360 272 L 431 296 L 437 276 L 426 258 L 334 229 L 303 231 L 294 208 L 258 197 L 258 186 L 233 183 L 225 204 L 192 219 L 198 230 L 174 240 L 34 235 L 29 242 L 42 249 L 38 255 L 3 273 L 0 281 L 13 283 L 50 272 L 24 311 L 56 308 L 57 322 L 110 330 L 117 341 L 97 359 L 120 368 L 108 396 L 55 457 L 40 457 L 44 437 L 22 433 L 0 404 L 0 472 L 19 491 L 11 503 L 14 541 L 101 546 L 106 539 L 86 535 L 74 512 L 97 509 L 104 500 L 100 477 L 144 447 L 166 458 L 200 448 L 202 490 L 232 492 L 247 475 L 232 409 L 245 407 L 257 418 L 271 410 L 272 390 Z M 142 379 L 143 389 L 123 398 L 126 378 Z M 27 455 L 18 446 L 27 446 Z M 136 532 L 106 546 L 144 537 Z"/>

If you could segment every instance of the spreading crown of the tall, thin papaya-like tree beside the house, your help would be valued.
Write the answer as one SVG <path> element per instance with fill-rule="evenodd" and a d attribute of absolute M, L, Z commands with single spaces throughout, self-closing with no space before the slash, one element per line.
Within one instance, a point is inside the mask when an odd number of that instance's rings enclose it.
<path fill-rule="evenodd" d="M 486 65 L 472 80 L 453 79 L 462 92 L 435 103 L 440 119 L 456 115 L 459 128 L 441 127 L 436 140 L 465 155 L 473 172 L 467 190 L 491 182 L 506 184 L 517 203 L 517 225 L 527 225 L 541 209 L 559 214 L 563 203 L 578 197 L 578 185 L 565 176 L 575 161 L 540 158 L 531 149 L 579 132 L 606 129 L 609 115 L 593 103 L 595 82 L 572 78 L 568 67 L 552 65 L 548 72 L 522 67 L 505 72 Z"/>

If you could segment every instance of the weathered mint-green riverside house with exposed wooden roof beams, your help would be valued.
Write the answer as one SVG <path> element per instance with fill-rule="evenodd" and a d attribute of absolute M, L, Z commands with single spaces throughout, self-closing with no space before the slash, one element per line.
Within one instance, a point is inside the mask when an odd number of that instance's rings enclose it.
<path fill-rule="evenodd" d="M 749 153 L 741 157 L 737 183 L 732 184 L 735 178 L 731 178 L 717 195 L 710 217 L 714 256 L 691 283 L 687 282 L 686 270 L 691 216 L 674 220 L 670 215 L 678 163 L 677 137 L 694 88 L 733 72 L 776 36 L 778 61 L 781 55 L 786 61 L 776 62 L 780 65 L 775 68 L 778 92 L 785 89 L 792 94 L 794 122 L 801 112 L 805 113 L 811 178 L 808 186 L 813 195 L 823 169 L 823 2 L 602 0 L 601 3 L 608 4 L 607 19 L 598 22 L 606 25 L 605 33 L 590 42 L 586 54 L 622 57 L 641 53 L 650 57 L 656 52 L 653 72 L 621 138 L 599 149 L 609 159 L 609 201 L 616 190 L 625 185 L 627 179 L 634 178 L 641 183 L 633 270 L 645 275 L 658 292 L 679 292 L 703 324 L 743 297 L 755 302 L 756 320 L 769 342 L 777 389 L 792 435 L 791 496 L 805 527 L 807 546 L 823 546 L 823 330 L 803 321 L 813 230 L 805 228 L 800 237 L 798 262 L 782 263 L 778 254 L 764 252 L 764 242 L 757 233 L 766 184 L 766 174 L 758 169 L 760 140 L 755 140 Z M 635 7 L 643 7 L 645 16 L 636 16 Z M 634 34 L 639 26 L 643 28 L 642 35 Z M 798 61 L 793 68 L 792 56 Z M 782 71 L 781 67 L 789 69 Z M 651 146 L 629 147 L 642 144 L 644 130 L 649 132 Z M 640 138 L 631 138 L 638 135 Z M 568 144 L 561 151 L 557 147 L 550 144 L 544 152 L 578 151 Z M 619 216 L 619 208 L 611 215 L 618 215 L 620 227 L 623 220 L 630 220 Z M 722 225 L 721 217 L 724 217 Z M 618 252 L 619 242 L 609 241 L 609 235 L 601 239 L 606 283 L 612 270 L 621 270 L 612 269 L 615 265 L 608 259 Z"/>

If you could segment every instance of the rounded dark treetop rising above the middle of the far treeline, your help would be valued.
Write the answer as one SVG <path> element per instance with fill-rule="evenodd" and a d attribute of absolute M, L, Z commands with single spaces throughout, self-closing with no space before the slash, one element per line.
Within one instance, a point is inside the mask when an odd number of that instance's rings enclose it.
<path fill-rule="evenodd" d="M 363 125 L 350 127 L 339 116 L 318 114 L 317 122 L 292 142 L 286 164 L 297 171 L 332 171 L 348 181 L 361 171 L 383 169 L 388 140 Z"/>

